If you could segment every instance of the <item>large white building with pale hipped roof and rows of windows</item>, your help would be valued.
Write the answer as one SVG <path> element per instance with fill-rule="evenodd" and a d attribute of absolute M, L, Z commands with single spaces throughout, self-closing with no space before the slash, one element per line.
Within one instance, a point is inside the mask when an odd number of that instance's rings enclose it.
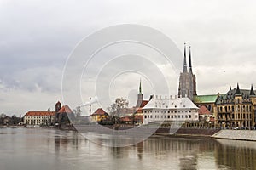
<path fill-rule="evenodd" d="M 199 108 L 188 98 L 154 96 L 143 107 L 143 124 L 151 122 L 197 122 Z"/>

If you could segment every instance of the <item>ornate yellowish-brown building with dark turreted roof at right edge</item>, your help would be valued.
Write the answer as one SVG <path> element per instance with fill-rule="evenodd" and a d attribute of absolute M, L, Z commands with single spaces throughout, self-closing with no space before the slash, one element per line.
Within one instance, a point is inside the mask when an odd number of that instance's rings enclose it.
<path fill-rule="evenodd" d="M 253 90 L 231 89 L 216 102 L 218 125 L 221 127 L 253 127 L 256 122 L 256 95 Z"/>

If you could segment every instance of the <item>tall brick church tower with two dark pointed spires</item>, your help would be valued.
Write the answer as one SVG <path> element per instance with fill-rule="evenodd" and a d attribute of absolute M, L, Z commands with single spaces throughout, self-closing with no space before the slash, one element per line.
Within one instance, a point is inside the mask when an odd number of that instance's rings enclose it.
<path fill-rule="evenodd" d="M 192 71 L 192 62 L 191 62 L 191 49 L 189 46 L 189 68 L 187 65 L 187 56 L 186 56 L 186 43 L 184 43 L 184 61 L 183 61 L 183 72 L 180 73 L 179 76 L 179 84 L 178 84 L 178 96 L 179 97 L 189 97 L 189 99 L 193 99 L 193 96 L 196 94 L 196 82 L 195 82 L 195 74 Z M 189 71 L 188 71 L 189 69 Z"/>

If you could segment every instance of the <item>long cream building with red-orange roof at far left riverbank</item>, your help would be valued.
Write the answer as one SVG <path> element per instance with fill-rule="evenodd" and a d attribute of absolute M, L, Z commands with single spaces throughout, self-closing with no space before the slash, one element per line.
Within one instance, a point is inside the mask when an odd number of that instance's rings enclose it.
<path fill-rule="evenodd" d="M 52 125 L 55 121 L 55 111 L 28 111 L 24 116 L 26 125 Z"/>

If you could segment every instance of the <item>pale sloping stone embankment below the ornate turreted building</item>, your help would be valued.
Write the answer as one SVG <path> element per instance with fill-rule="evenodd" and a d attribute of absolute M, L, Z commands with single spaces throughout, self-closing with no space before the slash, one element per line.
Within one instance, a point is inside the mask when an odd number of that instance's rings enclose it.
<path fill-rule="evenodd" d="M 256 141 L 256 130 L 220 130 L 212 138 Z"/>

